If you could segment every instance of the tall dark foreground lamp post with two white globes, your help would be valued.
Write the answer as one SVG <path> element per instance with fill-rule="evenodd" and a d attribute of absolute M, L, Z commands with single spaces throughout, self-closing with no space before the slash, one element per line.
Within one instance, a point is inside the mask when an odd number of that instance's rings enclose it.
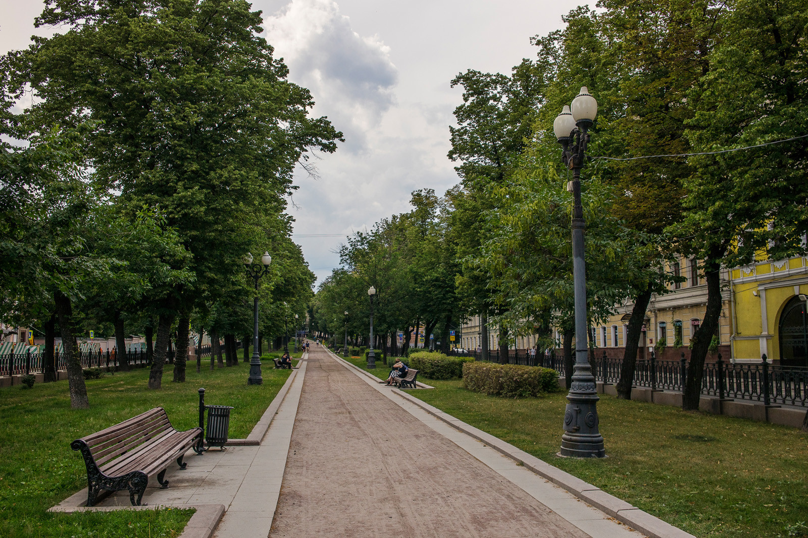
<path fill-rule="evenodd" d="M 564 412 L 564 435 L 559 456 L 606 457 L 604 438 L 598 429 L 598 398 L 595 376 L 587 358 L 587 282 L 583 257 L 583 207 L 581 206 L 581 169 L 589 142 L 588 130 L 598 114 L 598 102 L 581 88 L 572 107 L 564 106 L 553 122 L 553 131 L 562 144 L 564 165 L 572 170 L 567 186 L 573 194 L 572 257 L 575 299 L 575 365 Z"/>

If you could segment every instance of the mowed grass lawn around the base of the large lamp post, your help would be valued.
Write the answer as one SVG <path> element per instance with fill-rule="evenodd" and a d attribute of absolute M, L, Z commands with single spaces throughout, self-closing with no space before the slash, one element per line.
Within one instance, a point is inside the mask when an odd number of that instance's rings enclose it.
<path fill-rule="evenodd" d="M 507 399 L 430 381 L 413 396 L 703 538 L 808 536 L 808 434 L 603 396 L 607 458 L 557 457 L 566 391 Z"/>

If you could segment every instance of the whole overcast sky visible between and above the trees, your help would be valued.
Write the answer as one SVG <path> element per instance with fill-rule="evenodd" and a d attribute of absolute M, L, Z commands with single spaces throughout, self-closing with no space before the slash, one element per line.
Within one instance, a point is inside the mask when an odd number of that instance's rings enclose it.
<path fill-rule="evenodd" d="M 327 116 L 345 142 L 317 153 L 317 177 L 300 169 L 288 212 L 318 283 L 339 265 L 345 237 L 410 210 L 410 193 L 442 195 L 458 177 L 446 156 L 452 78 L 467 69 L 510 73 L 535 58 L 533 35 L 562 27 L 579 0 L 256 0 L 264 37 L 308 88 L 313 115 Z M 25 48 L 38 0 L 0 0 L 0 53 Z"/>

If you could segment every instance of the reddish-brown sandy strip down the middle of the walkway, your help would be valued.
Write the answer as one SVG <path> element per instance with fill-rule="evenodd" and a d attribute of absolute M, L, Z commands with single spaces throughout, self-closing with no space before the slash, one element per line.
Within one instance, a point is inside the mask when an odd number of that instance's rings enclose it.
<path fill-rule="evenodd" d="M 587 534 L 312 348 L 269 536 Z"/>

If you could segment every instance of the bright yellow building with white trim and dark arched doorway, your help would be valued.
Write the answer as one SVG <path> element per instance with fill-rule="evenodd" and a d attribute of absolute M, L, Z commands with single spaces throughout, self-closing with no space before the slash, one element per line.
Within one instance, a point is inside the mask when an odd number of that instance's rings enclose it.
<path fill-rule="evenodd" d="M 756 362 L 765 353 L 775 364 L 808 366 L 806 258 L 755 261 L 732 269 L 730 286 L 734 360 Z"/>

